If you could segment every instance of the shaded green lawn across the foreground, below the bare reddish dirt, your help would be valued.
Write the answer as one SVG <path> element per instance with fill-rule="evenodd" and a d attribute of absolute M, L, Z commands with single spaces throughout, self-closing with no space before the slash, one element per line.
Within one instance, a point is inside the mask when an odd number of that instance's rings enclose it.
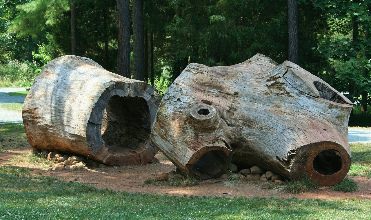
<path fill-rule="evenodd" d="M 97 189 L 0 166 L 1 219 L 370 219 L 370 200 L 169 196 Z M 88 198 L 88 199 L 87 199 Z M 231 208 L 233 207 L 233 208 Z"/>

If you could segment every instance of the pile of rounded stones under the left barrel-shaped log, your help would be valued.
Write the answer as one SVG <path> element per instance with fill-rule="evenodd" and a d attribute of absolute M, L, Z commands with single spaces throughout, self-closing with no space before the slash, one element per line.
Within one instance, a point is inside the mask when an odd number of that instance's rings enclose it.
<path fill-rule="evenodd" d="M 59 153 L 59 151 L 49 152 L 47 150 L 39 151 L 36 148 L 32 149 L 32 153 L 39 154 L 41 157 L 47 160 L 54 161 L 56 164 L 54 167 L 49 167 L 50 170 L 69 170 L 69 169 L 85 169 L 86 166 L 90 167 L 107 167 L 105 164 L 101 164 L 97 161 L 90 160 L 84 156 L 75 156 Z"/>

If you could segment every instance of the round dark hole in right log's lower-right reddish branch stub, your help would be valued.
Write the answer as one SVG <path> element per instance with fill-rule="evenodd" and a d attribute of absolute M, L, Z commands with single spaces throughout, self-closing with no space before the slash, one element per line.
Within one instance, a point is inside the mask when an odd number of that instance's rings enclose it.
<path fill-rule="evenodd" d="M 332 175 L 341 170 L 341 157 L 335 150 L 323 150 L 313 160 L 313 169 L 323 175 Z"/>

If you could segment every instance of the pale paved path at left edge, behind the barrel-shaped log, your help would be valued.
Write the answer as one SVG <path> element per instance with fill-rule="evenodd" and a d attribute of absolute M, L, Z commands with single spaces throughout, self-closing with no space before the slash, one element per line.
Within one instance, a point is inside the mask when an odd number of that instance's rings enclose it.
<path fill-rule="evenodd" d="M 0 89 L 0 104 L 12 102 L 24 102 L 26 97 L 9 96 L 6 93 L 24 91 L 26 88 L 4 88 Z M 0 122 L 23 123 L 22 113 L 0 109 Z"/>

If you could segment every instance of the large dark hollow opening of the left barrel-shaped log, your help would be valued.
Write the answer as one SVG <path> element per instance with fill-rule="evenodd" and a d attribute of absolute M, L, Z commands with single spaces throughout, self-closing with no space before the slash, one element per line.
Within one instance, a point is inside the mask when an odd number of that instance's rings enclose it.
<path fill-rule="evenodd" d="M 112 96 L 102 117 L 101 134 L 112 154 L 131 155 L 150 143 L 151 114 L 142 97 Z"/>

